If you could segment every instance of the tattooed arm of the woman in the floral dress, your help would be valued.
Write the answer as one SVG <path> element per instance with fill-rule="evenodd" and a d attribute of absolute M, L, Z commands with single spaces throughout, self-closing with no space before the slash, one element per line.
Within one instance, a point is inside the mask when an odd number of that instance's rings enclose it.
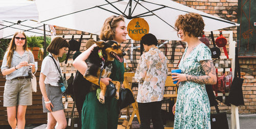
<path fill-rule="evenodd" d="M 172 75 L 176 75 L 172 77 L 177 83 L 181 81 L 193 81 L 200 84 L 216 84 L 217 83 L 217 76 L 215 72 L 214 63 L 212 60 L 202 60 L 200 61 L 201 66 L 205 72 L 204 76 L 195 76 L 195 75 L 186 75 L 186 74 L 178 74 L 172 73 Z"/>

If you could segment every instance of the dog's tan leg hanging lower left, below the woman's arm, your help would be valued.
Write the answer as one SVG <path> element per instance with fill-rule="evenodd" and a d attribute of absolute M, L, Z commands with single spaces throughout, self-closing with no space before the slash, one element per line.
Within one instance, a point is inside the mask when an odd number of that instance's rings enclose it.
<path fill-rule="evenodd" d="M 97 78 L 95 76 L 89 75 L 89 76 L 84 76 L 84 78 L 86 78 L 87 80 L 89 80 L 90 82 L 92 82 L 96 85 L 99 85 L 98 84 L 99 78 Z M 99 94 L 99 102 L 104 104 L 105 103 L 106 85 L 100 81 L 99 87 L 101 89 L 100 94 Z"/>

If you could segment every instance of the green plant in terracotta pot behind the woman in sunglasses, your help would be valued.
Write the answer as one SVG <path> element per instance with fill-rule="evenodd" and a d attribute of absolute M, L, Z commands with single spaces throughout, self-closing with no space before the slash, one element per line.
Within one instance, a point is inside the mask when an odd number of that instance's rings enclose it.
<path fill-rule="evenodd" d="M 32 51 L 35 60 L 38 59 L 38 52 L 39 52 L 39 49 L 42 48 L 41 42 L 43 41 L 44 40 L 41 40 L 36 36 L 27 37 L 28 49 Z"/>

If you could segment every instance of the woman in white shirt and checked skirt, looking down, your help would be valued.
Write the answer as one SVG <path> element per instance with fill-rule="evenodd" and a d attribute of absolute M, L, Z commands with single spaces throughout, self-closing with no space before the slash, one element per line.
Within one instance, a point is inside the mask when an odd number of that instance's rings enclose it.
<path fill-rule="evenodd" d="M 42 109 L 47 113 L 47 129 L 66 128 L 67 120 L 62 104 L 62 92 L 58 81 L 61 73 L 58 57 L 66 53 L 69 43 L 65 38 L 55 37 L 48 46 L 49 55 L 42 60 L 39 85 L 42 93 Z"/>

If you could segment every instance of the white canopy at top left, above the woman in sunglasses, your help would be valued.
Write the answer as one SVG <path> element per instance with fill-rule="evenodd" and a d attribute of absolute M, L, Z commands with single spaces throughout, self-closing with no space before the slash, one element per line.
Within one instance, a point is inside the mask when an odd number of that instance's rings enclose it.
<path fill-rule="evenodd" d="M 33 20 L 32 20 L 33 19 Z M 33 1 L 1 0 L 0 1 L 0 39 L 12 38 L 19 30 L 27 36 L 44 36 L 44 24 L 37 23 L 38 11 Z M 46 35 L 51 35 L 49 25 Z"/>

